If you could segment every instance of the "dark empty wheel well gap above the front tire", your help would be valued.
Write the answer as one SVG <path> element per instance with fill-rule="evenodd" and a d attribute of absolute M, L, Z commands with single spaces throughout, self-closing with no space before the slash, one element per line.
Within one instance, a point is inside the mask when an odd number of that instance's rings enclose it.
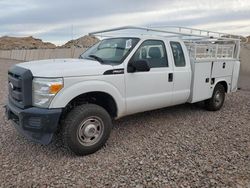
<path fill-rule="evenodd" d="M 75 106 L 86 103 L 96 104 L 103 107 L 112 118 L 117 116 L 117 105 L 115 100 L 111 95 L 104 92 L 89 92 L 79 95 L 67 104 L 65 111 L 67 113 Z"/>

